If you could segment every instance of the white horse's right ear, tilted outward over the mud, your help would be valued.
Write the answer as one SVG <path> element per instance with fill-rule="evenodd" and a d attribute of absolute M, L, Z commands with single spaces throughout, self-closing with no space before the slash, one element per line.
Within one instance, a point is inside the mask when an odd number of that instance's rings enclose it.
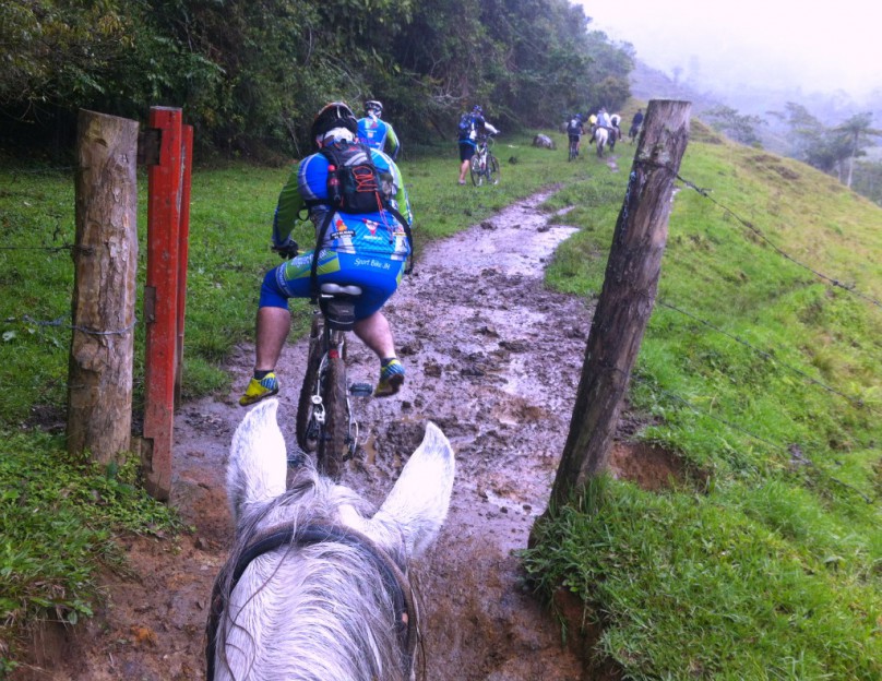
<path fill-rule="evenodd" d="M 448 516 L 453 491 L 453 447 L 434 423 L 426 426 L 422 443 L 402 470 L 383 505 L 369 521 L 377 538 L 390 521 L 403 535 L 408 555 L 422 553 Z M 382 541 L 380 539 L 380 541 Z"/>

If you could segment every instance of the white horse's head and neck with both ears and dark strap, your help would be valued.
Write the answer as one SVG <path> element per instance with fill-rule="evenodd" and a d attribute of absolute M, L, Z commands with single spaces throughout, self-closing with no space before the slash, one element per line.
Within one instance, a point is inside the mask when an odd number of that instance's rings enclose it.
<path fill-rule="evenodd" d="M 377 510 L 311 463 L 286 485 L 277 407 L 259 404 L 233 438 L 236 539 L 212 595 L 208 681 L 413 679 L 407 566 L 446 517 L 453 450 L 428 423 Z"/>

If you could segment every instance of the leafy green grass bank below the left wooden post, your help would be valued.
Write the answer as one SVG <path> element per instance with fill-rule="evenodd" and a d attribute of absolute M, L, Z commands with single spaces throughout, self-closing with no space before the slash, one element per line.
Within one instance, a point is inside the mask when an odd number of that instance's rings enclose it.
<path fill-rule="evenodd" d="M 72 461 L 60 438 L 0 430 L 0 677 L 15 645 L 44 619 L 93 614 L 102 565 L 123 568 L 121 534 L 162 536 L 175 514 L 136 485 L 138 462 L 99 468 Z"/>

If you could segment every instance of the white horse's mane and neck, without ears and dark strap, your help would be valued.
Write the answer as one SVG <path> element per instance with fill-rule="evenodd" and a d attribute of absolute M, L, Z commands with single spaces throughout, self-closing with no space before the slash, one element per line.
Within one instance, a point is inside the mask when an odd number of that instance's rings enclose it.
<path fill-rule="evenodd" d="M 347 488 L 303 467 L 277 499 L 240 518 L 227 565 L 270 527 L 339 524 L 341 509 L 372 513 Z M 403 561 L 403 546 L 391 548 Z M 259 555 L 235 589 L 223 577 L 215 679 L 398 681 L 407 676 L 394 626 L 398 617 L 383 576 L 365 552 L 335 542 L 284 546 Z"/>

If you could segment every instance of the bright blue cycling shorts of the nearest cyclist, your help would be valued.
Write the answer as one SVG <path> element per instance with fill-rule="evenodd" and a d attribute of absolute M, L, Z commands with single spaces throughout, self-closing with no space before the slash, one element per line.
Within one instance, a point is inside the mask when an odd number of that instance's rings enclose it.
<path fill-rule="evenodd" d="M 361 296 L 355 302 L 355 319 L 362 320 L 385 304 L 398 288 L 404 274 L 404 261 L 383 255 L 337 253 L 322 250 L 319 253 L 319 284 L 355 284 L 361 287 Z M 287 308 L 288 298 L 312 296 L 312 251 L 301 253 L 263 277 L 260 289 L 261 308 Z"/>

